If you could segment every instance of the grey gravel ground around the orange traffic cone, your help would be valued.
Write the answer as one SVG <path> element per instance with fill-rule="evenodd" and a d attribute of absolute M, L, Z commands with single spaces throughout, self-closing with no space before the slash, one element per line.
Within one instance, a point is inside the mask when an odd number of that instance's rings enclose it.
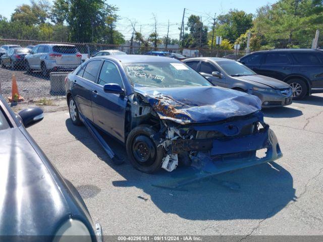
<path fill-rule="evenodd" d="M 44 78 L 40 72 L 27 74 L 22 69 L 10 70 L 10 68 L 0 68 L 0 82 L 4 97 L 11 96 L 12 75 L 15 74 L 18 90 L 26 101 L 40 98 L 52 98 L 50 92 L 49 77 Z"/>

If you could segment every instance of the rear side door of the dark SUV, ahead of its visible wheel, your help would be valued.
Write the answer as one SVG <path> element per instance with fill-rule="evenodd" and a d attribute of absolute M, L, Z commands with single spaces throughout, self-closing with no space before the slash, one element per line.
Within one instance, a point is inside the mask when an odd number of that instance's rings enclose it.
<path fill-rule="evenodd" d="M 258 74 L 284 80 L 292 73 L 293 62 L 288 52 L 267 52 L 263 63 L 260 65 Z"/>

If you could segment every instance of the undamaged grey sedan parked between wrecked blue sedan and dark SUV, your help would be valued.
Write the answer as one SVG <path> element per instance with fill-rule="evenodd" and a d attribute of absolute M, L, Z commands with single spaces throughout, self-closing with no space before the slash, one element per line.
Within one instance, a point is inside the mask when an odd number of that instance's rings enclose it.
<path fill-rule="evenodd" d="M 285 106 L 292 103 L 292 89 L 285 82 L 257 75 L 246 66 L 226 58 L 196 57 L 183 61 L 212 84 L 257 96 L 262 107 Z"/>

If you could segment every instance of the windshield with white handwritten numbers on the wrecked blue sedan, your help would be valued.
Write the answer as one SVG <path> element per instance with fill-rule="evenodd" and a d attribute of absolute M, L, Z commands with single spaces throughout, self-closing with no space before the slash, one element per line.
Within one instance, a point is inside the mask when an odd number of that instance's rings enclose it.
<path fill-rule="evenodd" d="M 212 86 L 204 77 L 183 63 L 147 62 L 124 64 L 132 83 L 149 87 Z"/>

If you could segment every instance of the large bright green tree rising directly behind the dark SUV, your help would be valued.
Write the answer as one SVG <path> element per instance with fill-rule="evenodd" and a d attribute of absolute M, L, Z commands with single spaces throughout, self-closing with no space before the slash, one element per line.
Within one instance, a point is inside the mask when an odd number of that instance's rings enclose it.
<path fill-rule="evenodd" d="M 323 27 L 323 4 L 321 0 L 280 0 L 258 9 L 253 24 L 262 48 L 310 47 L 316 29 Z"/>

